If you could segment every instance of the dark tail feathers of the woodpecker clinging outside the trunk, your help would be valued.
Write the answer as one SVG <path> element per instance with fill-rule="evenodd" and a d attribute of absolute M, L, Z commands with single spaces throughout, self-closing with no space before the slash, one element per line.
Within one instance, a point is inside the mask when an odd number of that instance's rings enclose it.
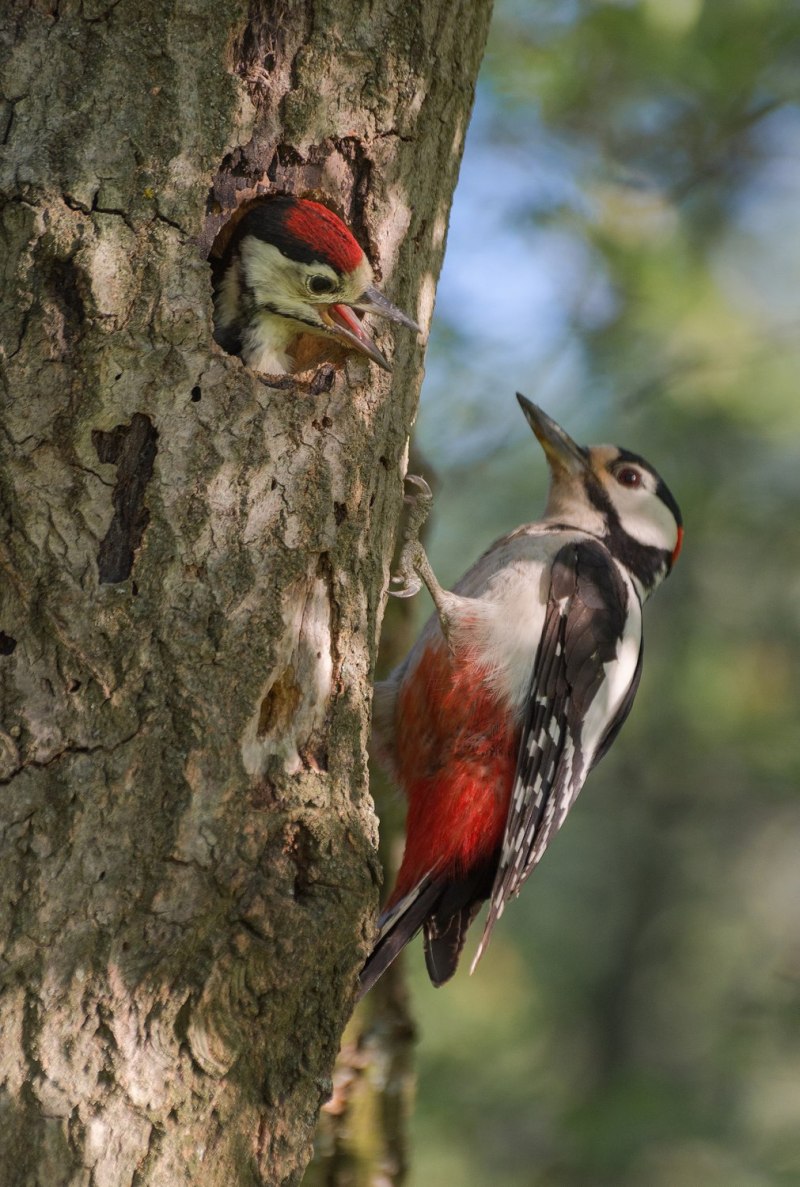
<path fill-rule="evenodd" d="M 373 988 L 420 928 L 425 933 L 428 977 L 437 988 L 450 980 L 458 966 L 466 929 L 489 897 L 496 864 L 495 858 L 455 880 L 427 874 L 385 910 L 377 921 L 377 941 L 361 971 L 358 998 Z"/>

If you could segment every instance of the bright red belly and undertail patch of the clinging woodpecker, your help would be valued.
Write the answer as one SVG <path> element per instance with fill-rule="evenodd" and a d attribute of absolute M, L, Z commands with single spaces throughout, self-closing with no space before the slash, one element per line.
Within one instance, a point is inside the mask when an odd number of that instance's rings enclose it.
<path fill-rule="evenodd" d="M 408 819 L 387 906 L 428 870 L 463 874 L 497 849 L 520 741 L 472 665 L 436 646 L 426 648 L 400 690 L 396 729 Z"/>

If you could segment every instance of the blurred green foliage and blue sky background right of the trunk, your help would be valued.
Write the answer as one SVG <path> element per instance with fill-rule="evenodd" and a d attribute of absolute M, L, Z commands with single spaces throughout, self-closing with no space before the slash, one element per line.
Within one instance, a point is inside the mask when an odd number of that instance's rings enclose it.
<path fill-rule="evenodd" d="M 798 4 L 501 0 L 420 414 L 434 567 L 540 512 L 518 387 L 648 457 L 686 545 L 475 976 L 408 953 L 413 1187 L 800 1183 L 799 330 Z"/>

